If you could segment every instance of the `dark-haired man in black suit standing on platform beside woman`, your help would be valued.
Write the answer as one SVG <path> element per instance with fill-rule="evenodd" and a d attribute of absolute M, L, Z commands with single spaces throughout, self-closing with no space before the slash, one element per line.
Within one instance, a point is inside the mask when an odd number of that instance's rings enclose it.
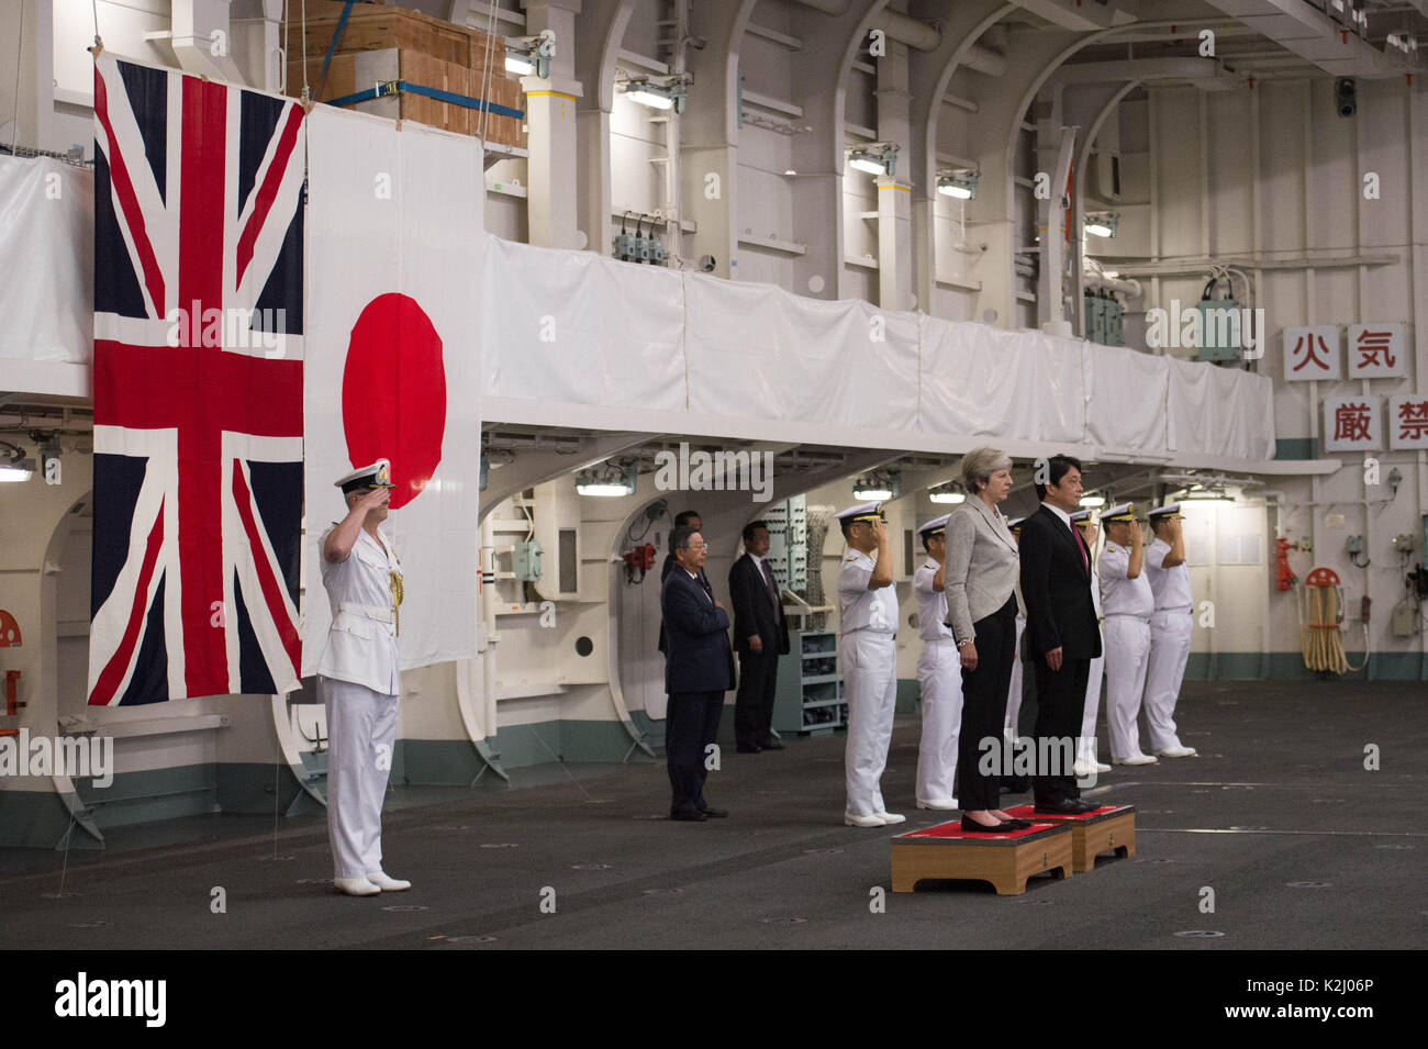
<path fill-rule="evenodd" d="M 1100 808 L 1081 801 L 1071 768 L 1091 659 L 1101 655 L 1091 551 L 1071 524 L 1081 502 L 1081 462 L 1054 455 L 1044 474 L 1038 464 L 1035 484 L 1041 510 L 1021 522 L 1021 599 L 1032 657 L 1028 671 L 1037 675 L 1038 775 L 1032 792 L 1037 812 L 1074 815 Z"/>

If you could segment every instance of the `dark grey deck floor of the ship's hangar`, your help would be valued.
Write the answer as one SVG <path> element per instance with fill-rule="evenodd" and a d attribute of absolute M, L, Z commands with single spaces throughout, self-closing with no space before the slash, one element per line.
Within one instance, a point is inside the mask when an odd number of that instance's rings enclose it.
<path fill-rule="evenodd" d="M 1201 756 L 1117 768 L 1138 855 L 1024 896 L 890 889 L 890 831 L 843 826 L 843 735 L 725 754 L 707 795 L 733 816 L 673 824 L 664 765 L 558 768 L 510 791 L 397 788 L 388 872 L 411 892 L 331 892 L 320 816 L 203 816 L 106 852 L 0 851 L 6 948 L 1422 948 L 1428 945 L 1428 688 L 1187 684 Z M 910 829 L 918 724 L 900 718 L 884 795 Z M 1104 726 L 1102 726 L 1104 739 Z M 1364 748 L 1381 748 L 1381 771 Z M 1102 742 L 1102 756 L 1105 745 Z M 551 774 L 555 774 L 554 776 Z M 1015 804 L 1022 798 L 1008 798 Z M 276 851 L 276 859 L 274 859 Z M 66 893 L 56 899 L 63 871 Z M 211 913 L 223 886 L 227 913 Z M 1214 913 L 1202 913 L 1202 888 Z M 543 913 L 543 889 L 554 913 Z M 548 899 L 550 893 L 544 893 Z M 1221 936 L 1178 936 L 1182 932 Z"/>

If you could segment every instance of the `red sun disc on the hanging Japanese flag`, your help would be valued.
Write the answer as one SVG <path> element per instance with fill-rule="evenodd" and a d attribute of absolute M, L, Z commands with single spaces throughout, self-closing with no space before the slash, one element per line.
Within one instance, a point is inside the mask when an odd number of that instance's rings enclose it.
<path fill-rule="evenodd" d="M 410 295 L 377 295 L 353 325 L 343 370 L 343 432 L 354 468 L 391 460 L 393 510 L 417 498 L 441 462 L 441 337 Z"/>

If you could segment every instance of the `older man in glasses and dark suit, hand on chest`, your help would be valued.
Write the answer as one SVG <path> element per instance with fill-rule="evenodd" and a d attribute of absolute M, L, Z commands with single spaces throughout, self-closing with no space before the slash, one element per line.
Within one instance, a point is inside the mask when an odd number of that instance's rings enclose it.
<path fill-rule="evenodd" d="M 708 776 L 705 754 L 718 735 L 724 692 L 734 684 L 734 652 L 728 647 L 728 612 L 701 582 L 705 545 L 690 528 L 670 537 L 674 568 L 664 577 L 660 609 L 668 658 L 664 691 L 670 708 L 664 722 L 664 752 L 670 768 L 670 819 L 700 822 L 727 816 L 704 801 Z"/>

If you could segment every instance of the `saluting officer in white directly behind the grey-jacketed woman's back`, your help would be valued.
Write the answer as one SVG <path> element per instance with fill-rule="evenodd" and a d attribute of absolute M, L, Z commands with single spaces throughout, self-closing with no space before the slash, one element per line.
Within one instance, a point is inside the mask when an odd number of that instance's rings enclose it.
<path fill-rule="evenodd" d="M 955 809 L 957 732 L 962 724 L 962 658 L 947 619 L 942 562 L 947 559 L 947 518 L 932 518 L 917 529 L 927 561 L 912 574 L 917 595 L 917 684 L 922 692 L 922 736 L 917 746 L 917 806 Z"/>

